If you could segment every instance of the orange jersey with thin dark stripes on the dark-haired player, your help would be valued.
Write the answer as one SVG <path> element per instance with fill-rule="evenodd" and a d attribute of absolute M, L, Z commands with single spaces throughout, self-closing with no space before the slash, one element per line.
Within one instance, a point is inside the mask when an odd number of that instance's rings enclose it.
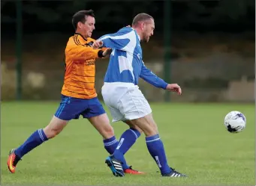
<path fill-rule="evenodd" d="M 80 34 L 70 37 L 65 49 L 65 78 L 62 94 L 92 99 L 95 91 L 95 59 L 102 58 L 102 49 L 92 49 L 92 38 Z"/>

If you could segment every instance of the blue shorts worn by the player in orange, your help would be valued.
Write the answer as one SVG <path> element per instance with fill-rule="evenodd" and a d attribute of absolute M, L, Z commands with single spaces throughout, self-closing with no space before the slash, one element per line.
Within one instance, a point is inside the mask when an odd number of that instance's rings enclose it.
<path fill-rule="evenodd" d="M 62 95 L 62 101 L 54 114 L 61 120 L 96 117 L 106 113 L 98 98 L 78 99 Z"/>

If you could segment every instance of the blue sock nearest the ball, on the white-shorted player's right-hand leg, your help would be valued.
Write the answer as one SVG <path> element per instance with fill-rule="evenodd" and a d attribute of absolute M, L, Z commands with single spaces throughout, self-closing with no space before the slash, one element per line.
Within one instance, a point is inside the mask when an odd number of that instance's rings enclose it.
<path fill-rule="evenodd" d="M 167 158 L 164 152 L 164 144 L 162 143 L 159 134 L 146 137 L 146 146 L 149 149 L 150 155 L 152 158 L 154 158 L 156 164 L 158 164 L 161 174 L 170 173 L 171 169 L 167 163 Z"/>

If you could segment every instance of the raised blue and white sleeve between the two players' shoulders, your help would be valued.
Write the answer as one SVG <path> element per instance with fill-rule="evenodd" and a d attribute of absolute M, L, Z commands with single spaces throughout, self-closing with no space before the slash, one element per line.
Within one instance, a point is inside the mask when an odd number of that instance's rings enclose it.
<path fill-rule="evenodd" d="M 131 31 L 131 28 L 122 28 L 115 34 L 106 34 L 98 40 L 103 41 L 103 47 L 124 50 L 125 46 L 130 42 L 128 33 Z"/>

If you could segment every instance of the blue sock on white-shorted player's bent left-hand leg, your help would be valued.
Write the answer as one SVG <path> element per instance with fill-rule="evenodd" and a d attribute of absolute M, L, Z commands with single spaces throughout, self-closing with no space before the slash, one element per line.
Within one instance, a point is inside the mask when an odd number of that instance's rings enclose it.
<path fill-rule="evenodd" d="M 124 162 L 125 158 L 124 155 L 128 151 L 128 149 L 133 146 L 137 138 L 140 137 L 140 131 L 137 131 L 134 128 L 130 128 L 126 130 L 119 140 L 119 145 L 116 147 L 116 151 L 114 152 L 113 156 L 119 161 Z M 127 169 L 127 167 L 123 166 L 123 169 Z"/>

